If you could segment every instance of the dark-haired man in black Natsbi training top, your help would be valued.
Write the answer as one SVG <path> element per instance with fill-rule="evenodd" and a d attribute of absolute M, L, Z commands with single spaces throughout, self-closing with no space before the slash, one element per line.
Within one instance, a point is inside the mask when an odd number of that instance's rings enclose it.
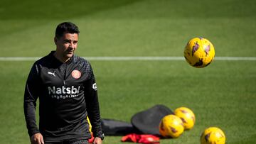
<path fill-rule="evenodd" d="M 88 143 L 91 135 L 87 116 L 95 137 L 93 143 L 102 143 L 104 134 L 92 67 L 74 55 L 78 34 L 74 23 L 60 23 L 55 31 L 56 50 L 37 60 L 28 75 L 23 106 L 33 144 Z M 38 97 L 39 129 L 35 114 Z"/>

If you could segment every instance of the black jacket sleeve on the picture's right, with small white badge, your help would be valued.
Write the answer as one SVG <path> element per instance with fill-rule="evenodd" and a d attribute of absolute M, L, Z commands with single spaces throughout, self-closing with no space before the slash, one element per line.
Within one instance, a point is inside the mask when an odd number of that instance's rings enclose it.
<path fill-rule="evenodd" d="M 103 133 L 102 133 L 102 126 L 100 121 L 100 106 L 99 106 L 99 101 L 97 96 L 97 86 L 96 86 L 95 77 L 92 70 L 90 71 L 90 76 L 88 77 L 84 86 L 85 86 L 85 103 L 86 103 L 88 117 L 92 125 L 92 133 L 94 137 L 101 138 Z"/>

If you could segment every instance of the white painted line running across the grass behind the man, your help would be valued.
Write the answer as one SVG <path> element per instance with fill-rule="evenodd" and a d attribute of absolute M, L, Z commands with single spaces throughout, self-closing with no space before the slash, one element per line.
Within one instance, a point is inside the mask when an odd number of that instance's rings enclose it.
<path fill-rule="evenodd" d="M 0 57 L 0 61 L 35 61 L 41 57 Z M 184 57 L 84 57 L 86 60 L 99 61 L 124 61 L 124 60 L 185 60 Z M 235 60 L 235 61 L 255 61 L 256 57 L 215 57 L 214 60 Z"/>

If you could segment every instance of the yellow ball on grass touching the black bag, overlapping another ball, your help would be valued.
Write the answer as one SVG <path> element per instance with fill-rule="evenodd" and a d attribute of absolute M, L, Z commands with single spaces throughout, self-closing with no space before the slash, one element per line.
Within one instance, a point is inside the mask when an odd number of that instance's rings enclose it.
<path fill-rule="evenodd" d="M 181 118 L 173 114 L 164 116 L 159 124 L 159 133 L 165 138 L 178 138 L 184 131 Z"/>

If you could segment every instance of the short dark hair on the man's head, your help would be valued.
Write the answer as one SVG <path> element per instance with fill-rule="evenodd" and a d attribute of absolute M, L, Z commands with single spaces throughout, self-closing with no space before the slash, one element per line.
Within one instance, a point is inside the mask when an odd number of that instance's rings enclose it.
<path fill-rule="evenodd" d="M 80 33 L 78 30 L 78 26 L 71 22 L 63 22 L 60 23 L 55 31 L 55 37 L 60 38 L 63 36 L 63 33 Z"/>

